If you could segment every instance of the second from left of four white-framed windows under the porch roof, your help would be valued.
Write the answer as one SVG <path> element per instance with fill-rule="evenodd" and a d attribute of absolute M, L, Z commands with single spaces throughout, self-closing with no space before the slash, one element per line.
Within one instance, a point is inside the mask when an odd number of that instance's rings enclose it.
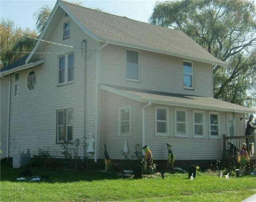
<path fill-rule="evenodd" d="M 175 108 L 175 135 L 187 136 L 187 110 Z"/>

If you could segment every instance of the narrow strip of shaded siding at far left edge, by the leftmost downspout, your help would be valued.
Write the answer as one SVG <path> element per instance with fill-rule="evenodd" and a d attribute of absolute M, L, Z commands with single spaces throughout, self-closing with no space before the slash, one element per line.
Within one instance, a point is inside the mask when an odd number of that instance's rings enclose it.
<path fill-rule="evenodd" d="M 8 130 L 8 98 L 9 98 L 9 81 L 10 81 L 10 76 L 6 76 L 1 79 L 1 85 L 0 85 L 0 103 L 1 103 L 1 109 L 0 109 L 0 150 L 2 153 L 0 154 L 1 159 L 6 157 L 7 154 L 7 130 Z"/>

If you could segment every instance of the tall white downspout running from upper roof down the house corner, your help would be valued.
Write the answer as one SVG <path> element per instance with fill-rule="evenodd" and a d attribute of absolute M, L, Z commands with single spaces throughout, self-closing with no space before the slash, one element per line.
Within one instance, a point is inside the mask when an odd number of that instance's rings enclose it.
<path fill-rule="evenodd" d="M 96 50 L 96 112 L 95 112 L 95 149 L 94 149 L 94 162 L 97 162 L 98 159 L 98 151 L 99 151 L 99 122 L 100 122 L 100 117 L 99 117 L 99 107 L 100 107 L 100 89 L 99 89 L 99 84 L 100 84 L 100 50 L 102 50 L 104 47 L 108 45 L 108 40 L 105 41 L 105 43 L 100 46 Z"/>

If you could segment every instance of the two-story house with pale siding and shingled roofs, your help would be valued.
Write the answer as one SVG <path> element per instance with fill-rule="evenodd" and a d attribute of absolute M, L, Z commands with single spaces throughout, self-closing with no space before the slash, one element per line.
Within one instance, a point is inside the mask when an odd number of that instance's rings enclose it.
<path fill-rule="evenodd" d="M 213 98 L 212 64 L 227 64 L 182 31 L 58 0 L 32 53 L 1 70 L 1 150 L 124 159 L 148 145 L 166 160 L 222 159 L 223 134 L 244 135 L 256 110 Z M 88 136 L 95 139 L 87 152 Z"/>

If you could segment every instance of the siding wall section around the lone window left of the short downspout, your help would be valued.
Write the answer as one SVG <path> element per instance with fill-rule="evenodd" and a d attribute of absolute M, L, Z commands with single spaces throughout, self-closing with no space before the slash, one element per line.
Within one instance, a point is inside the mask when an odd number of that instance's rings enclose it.
<path fill-rule="evenodd" d="M 116 94 L 105 92 L 102 90 L 101 103 L 107 108 L 102 108 L 101 118 L 101 137 L 100 137 L 100 153 L 99 158 L 104 158 L 103 144 L 106 144 L 108 154 L 111 159 L 124 159 L 122 150 L 124 149 L 124 141 L 127 140 L 128 155 L 134 154 L 134 146 L 141 145 L 141 106 L 140 102 L 118 96 Z M 103 106 L 103 105 L 102 105 Z M 131 106 L 131 135 L 119 135 L 119 107 Z M 103 134 L 105 137 L 103 137 Z"/>

